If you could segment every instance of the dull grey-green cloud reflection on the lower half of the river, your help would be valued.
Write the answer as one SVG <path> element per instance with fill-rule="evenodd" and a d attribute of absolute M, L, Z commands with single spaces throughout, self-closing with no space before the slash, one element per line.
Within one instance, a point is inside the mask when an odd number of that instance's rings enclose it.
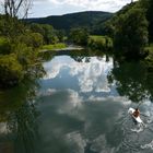
<path fill-rule="evenodd" d="M 40 105 L 40 108 L 44 109 L 45 107 L 43 113 L 46 116 L 42 123 L 44 125 L 44 143 L 46 141 L 50 142 L 47 131 L 50 132 L 51 127 L 51 133 L 55 137 L 60 136 L 64 144 L 78 153 L 84 153 L 87 150 L 86 148 L 91 152 L 114 152 L 114 148 L 109 146 L 108 136 L 105 136 L 105 131 L 108 129 L 111 131 L 114 127 L 110 126 L 110 122 L 115 122 L 119 118 L 118 110 L 120 108 L 118 106 L 120 103 L 115 102 L 122 102 L 126 97 L 111 96 L 107 99 L 106 97 L 91 96 L 86 99 L 70 89 L 66 91 L 48 89 L 46 93 L 42 94 L 42 96 L 46 97 L 46 103 L 42 104 L 43 106 Z M 108 111 L 106 108 L 110 104 L 114 109 Z M 56 119 L 48 118 L 48 115 Z M 59 116 L 59 118 L 56 116 Z M 62 120 L 63 117 L 66 122 Z M 104 118 L 101 119 L 101 117 Z M 73 121 L 71 119 L 79 125 L 72 126 Z M 69 122 L 72 127 L 67 122 L 68 120 L 72 121 L 71 123 Z"/>

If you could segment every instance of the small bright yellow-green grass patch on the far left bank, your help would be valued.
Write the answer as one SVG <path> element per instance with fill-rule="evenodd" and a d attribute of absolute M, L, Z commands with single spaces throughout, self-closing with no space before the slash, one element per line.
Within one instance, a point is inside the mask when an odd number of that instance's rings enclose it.
<path fill-rule="evenodd" d="M 44 45 L 43 49 L 47 49 L 47 50 L 55 50 L 55 49 L 62 49 L 66 48 L 67 45 L 63 43 L 58 43 L 58 44 L 50 44 L 50 45 Z"/>

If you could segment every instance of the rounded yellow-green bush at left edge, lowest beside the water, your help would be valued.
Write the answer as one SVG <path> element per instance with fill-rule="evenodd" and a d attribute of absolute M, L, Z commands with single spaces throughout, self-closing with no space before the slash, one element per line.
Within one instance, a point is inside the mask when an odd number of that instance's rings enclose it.
<path fill-rule="evenodd" d="M 0 86 L 10 86 L 17 84 L 23 79 L 22 66 L 16 56 L 0 56 Z"/>

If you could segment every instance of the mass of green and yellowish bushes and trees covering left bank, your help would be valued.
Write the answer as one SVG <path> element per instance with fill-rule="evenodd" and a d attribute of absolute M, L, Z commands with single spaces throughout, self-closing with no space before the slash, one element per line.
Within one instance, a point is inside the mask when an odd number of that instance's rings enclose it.
<path fill-rule="evenodd" d="M 38 49 L 57 42 L 51 25 L 27 25 L 16 17 L 0 15 L 0 87 L 19 84 L 25 76 L 36 74 L 40 63 Z"/>

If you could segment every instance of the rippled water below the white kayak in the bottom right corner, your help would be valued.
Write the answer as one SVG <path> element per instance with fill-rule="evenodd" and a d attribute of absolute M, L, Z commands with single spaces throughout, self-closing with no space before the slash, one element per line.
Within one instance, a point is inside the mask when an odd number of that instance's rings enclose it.
<path fill-rule="evenodd" d="M 117 153 L 152 153 L 152 119 L 143 118 L 144 125 L 136 125 L 130 116 L 121 116 L 122 121 L 116 123 L 121 127 L 122 142 L 117 149 Z M 148 142 L 148 143 L 146 143 Z"/>

